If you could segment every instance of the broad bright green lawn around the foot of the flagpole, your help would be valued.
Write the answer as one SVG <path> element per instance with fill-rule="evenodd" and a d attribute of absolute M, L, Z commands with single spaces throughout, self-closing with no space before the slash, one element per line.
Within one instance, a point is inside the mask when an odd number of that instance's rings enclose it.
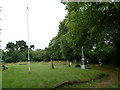
<path fill-rule="evenodd" d="M 67 81 L 86 81 L 103 74 L 96 69 L 80 69 L 56 64 L 32 63 L 31 74 L 28 74 L 28 65 L 8 65 L 8 70 L 2 72 L 3 88 L 54 88 Z"/>

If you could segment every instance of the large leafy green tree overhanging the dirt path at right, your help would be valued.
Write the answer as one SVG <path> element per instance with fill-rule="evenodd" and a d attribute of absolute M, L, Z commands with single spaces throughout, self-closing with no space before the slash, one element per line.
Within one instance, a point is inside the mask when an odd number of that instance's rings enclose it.
<path fill-rule="evenodd" d="M 119 13 L 120 3 L 67 3 L 68 10 L 67 40 L 78 53 L 82 45 L 85 47 L 87 56 L 91 56 L 93 46 L 95 54 L 91 57 L 102 58 L 104 63 L 118 62 L 109 54 L 116 54 L 118 57 L 119 49 Z M 89 43 L 89 45 L 88 45 Z M 77 47 L 77 48 L 76 48 Z M 116 48 L 116 52 L 115 52 Z M 100 55 L 102 53 L 102 55 Z M 100 56 L 99 56 L 100 55 Z M 109 56 L 107 59 L 106 57 Z M 107 59 L 107 60 L 105 60 Z"/>

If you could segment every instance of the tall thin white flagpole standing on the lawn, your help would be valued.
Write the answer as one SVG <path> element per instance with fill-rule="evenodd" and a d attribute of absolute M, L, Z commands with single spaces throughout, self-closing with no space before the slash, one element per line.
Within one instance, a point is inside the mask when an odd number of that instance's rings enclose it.
<path fill-rule="evenodd" d="M 27 7 L 27 40 L 28 40 L 28 72 L 30 74 L 30 51 L 29 51 L 29 13 Z"/>

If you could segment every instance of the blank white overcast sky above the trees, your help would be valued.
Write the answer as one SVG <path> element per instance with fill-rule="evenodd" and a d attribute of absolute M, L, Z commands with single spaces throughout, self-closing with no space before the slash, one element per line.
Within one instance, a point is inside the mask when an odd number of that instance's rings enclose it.
<path fill-rule="evenodd" d="M 67 14 L 60 0 L 0 0 L 2 48 L 8 42 L 27 42 L 27 9 L 29 7 L 29 43 L 44 49 L 58 33 L 59 22 Z"/>

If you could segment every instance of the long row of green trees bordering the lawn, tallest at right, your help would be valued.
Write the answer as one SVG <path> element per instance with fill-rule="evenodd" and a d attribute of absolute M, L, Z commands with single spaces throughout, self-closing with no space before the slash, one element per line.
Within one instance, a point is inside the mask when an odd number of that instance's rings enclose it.
<path fill-rule="evenodd" d="M 59 23 L 57 36 L 44 50 L 34 51 L 30 48 L 31 60 L 80 61 L 82 58 L 81 47 L 83 46 L 85 57 L 91 63 L 98 63 L 98 60 L 101 59 L 104 64 L 119 65 L 120 2 L 68 2 L 63 4 L 66 5 L 68 14 Z M 24 47 L 24 50 L 22 47 L 14 49 L 14 55 L 21 54 L 19 60 L 25 61 L 26 48 L 27 46 Z M 13 50 L 5 52 L 6 61 L 11 60 L 8 52 L 12 54 Z"/>

